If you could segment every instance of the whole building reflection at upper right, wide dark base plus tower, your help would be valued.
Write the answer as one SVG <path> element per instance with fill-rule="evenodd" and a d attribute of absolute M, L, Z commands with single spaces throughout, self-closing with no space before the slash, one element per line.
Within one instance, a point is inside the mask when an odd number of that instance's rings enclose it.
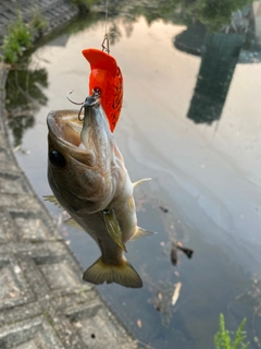
<path fill-rule="evenodd" d="M 194 23 L 175 37 L 174 46 L 201 56 L 187 117 L 196 123 L 219 120 L 237 62 L 261 61 L 261 0 L 233 13 L 223 32 L 210 34 L 202 24 Z"/>

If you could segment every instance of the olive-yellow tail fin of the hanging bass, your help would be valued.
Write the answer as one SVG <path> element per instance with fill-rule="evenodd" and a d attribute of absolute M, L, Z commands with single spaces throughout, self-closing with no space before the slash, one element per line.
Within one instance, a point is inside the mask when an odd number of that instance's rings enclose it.
<path fill-rule="evenodd" d="M 127 261 L 123 261 L 121 265 L 112 265 L 102 262 L 100 257 L 84 273 L 83 279 L 95 285 L 107 281 L 132 288 L 142 287 L 140 276 Z"/>

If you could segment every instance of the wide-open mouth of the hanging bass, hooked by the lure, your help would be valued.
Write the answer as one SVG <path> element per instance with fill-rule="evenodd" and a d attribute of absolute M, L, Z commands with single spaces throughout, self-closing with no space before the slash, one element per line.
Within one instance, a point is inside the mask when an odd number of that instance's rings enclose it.
<path fill-rule="evenodd" d="M 114 142 L 98 95 L 88 96 L 79 112 L 51 111 L 47 124 L 49 153 L 59 152 L 91 167 L 109 167 Z"/>

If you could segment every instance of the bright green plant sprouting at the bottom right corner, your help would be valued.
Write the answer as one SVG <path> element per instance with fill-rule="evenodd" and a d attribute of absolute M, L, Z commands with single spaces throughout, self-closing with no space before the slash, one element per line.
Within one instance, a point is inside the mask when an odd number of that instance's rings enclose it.
<path fill-rule="evenodd" d="M 225 317 L 223 314 L 220 314 L 220 330 L 216 333 L 214 337 L 215 349 L 247 349 L 249 342 L 244 344 L 247 337 L 244 332 L 245 324 L 246 318 L 244 318 L 240 325 L 238 326 L 235 335 L 235 340 L 232 341 L 229 330 L 225 329 Z"/>

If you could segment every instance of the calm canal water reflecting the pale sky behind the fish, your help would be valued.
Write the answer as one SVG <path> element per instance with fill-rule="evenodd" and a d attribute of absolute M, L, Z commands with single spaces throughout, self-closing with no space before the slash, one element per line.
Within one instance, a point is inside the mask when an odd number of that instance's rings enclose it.
<path fill-rule="evenodd" d="M 206 36 L 201 27 L 196 45 L 189 38 L 197 29 L 177 23 L 142 15 L 109 22 L 111 55 L 124 76 L 114 134 L 130 179 L 152 178 L 135 189 L 135 200 L 139 226 L 157 233 L 127 243 L 142 289 L 98 290 L 148 348 L 214 348 L 220 313 L 231 330 L 246 317 L 249 348 L 261 348 L 259 52 L 244 50 L 241 35 Z M 100 48 L 104 26 L 96 20 L 63 32 L 10 73 L 10 136 L 40 200 L 51 194 L 47 115 L 74 107 L 66 99 L 71 89 L 77 101 L 87 96 L 89 64 L 82 50 Z M 98 246 L 45 204 L 87 268 Z M 172 241 L 192 249 L 192 257 L 178 252 L 172 265 Z"/>

